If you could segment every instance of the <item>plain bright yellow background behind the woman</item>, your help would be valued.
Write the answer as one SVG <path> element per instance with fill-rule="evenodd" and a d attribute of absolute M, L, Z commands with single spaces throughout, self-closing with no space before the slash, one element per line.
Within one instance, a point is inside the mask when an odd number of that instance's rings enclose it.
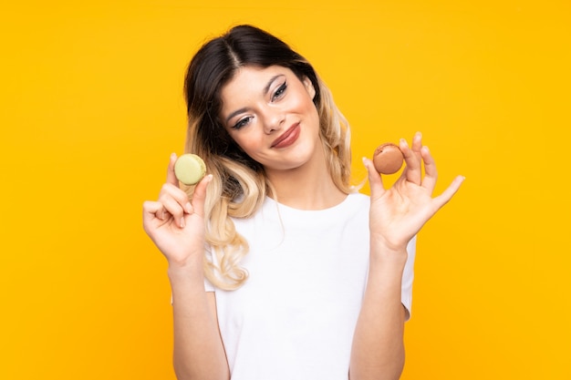
<path fill-rule="evenodd" d="M 420 232 L 402 378 L 569 379 L 568 1 L 2 5 L 2 379 L 172 379 L 145 236 L 192 53 L 253 23 L 305 55 L 360 157 L 421 130 L 462 190 Z"/>

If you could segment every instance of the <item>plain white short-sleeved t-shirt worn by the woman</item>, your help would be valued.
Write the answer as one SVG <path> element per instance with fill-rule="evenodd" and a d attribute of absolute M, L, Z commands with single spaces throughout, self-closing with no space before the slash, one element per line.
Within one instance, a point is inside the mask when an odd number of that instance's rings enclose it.
<path fill-rule="evenodd" d="M 369 197 L 350 194 L 327 210 L 267 198 L 234 220 L 250 244 L 250 277 L 216 293 L 232 380 L 348 380 L 355 325 L 369 269 Z M 415 240 L 402 279 L 410 311 Z"/>

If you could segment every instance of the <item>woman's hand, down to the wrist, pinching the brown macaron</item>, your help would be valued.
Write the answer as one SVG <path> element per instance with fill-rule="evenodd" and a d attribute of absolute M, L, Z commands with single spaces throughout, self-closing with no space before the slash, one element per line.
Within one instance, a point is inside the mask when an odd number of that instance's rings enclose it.
<path fill-rule="evenodd" d="M 406 168 L 399 180 L 385 189 L 381 176 L 370 159 L 363 159 L 369 171 L 370 183 L 370 233 L 371 244 L 383 244 L 385 248 L 402 252 L 420 228 L 441 209 L 460 189 L 464 178 L 456 177 L 441 195 L 432 198 L 437 170 L 431 152 L 422 146 L 422 136 L 417 132 L 411 147 L 400 140 L 400 150 Z M 424 176 L 422 176 L 424 163 Z"/>

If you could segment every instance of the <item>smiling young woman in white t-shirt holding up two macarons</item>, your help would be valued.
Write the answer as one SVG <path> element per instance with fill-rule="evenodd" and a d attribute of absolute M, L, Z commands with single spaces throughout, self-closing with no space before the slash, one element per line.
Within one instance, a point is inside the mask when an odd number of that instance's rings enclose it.
<path fill-rule="evenodd" d="M 180 379 L 397 379 L 415 236 L 432 198 L 417 133 L 385 189 L 351 187 L 348 122 L 303 56 L 236 26 L 192 58 L 187 152 L 208 175 L 181 189 L 171 156 L 145 231 L 169 262 Z M 421 174 L 424 165 L 425 175 Z"/>

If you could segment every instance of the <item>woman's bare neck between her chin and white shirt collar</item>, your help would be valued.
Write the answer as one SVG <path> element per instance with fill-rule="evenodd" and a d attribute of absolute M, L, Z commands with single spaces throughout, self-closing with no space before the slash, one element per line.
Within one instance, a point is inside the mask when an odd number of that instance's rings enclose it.
<path fill-rule="evenodd" d="M 299 210 L 323 210 L 345 200 L 331 179 L 325 154 L 316 155 L 304 166 L 289 170 L 266 170 L 275 190 L 275 200 Z"/>

